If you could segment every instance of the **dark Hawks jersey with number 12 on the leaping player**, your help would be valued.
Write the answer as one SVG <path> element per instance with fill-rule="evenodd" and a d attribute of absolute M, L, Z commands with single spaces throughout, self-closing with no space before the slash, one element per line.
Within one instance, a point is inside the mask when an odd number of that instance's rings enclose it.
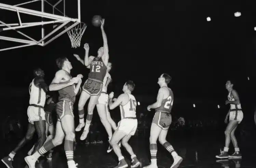
<path fill-rule="evenodd" d="M 102 61 L 102 58 L 95 57 L 90 64 L 90 73 L 88 74 L 88 79 L 92 79 L 103 83 L 106 72 L 107 67 Z"/>

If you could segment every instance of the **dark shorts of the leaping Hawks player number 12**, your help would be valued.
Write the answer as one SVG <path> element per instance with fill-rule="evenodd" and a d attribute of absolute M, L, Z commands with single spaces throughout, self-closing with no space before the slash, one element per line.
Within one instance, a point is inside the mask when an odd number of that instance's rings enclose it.
<path fill-rule="evenodd" d="M 90 95 L 97 96 L 101 93 L 102 87 L 103 87 L 103 84 L 101 82 L 87 79 L 84 82 L 83 90 L 86 91 Z"/>

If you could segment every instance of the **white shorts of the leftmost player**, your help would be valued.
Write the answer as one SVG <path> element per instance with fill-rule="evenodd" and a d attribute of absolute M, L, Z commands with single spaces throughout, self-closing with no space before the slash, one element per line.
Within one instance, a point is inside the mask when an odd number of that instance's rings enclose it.
<path fill-rule="evenodd" d="M 45 113 L 43 108 L 28 106 L 28 122 L 34 124 L 34 121 L 45 120 Z"/>

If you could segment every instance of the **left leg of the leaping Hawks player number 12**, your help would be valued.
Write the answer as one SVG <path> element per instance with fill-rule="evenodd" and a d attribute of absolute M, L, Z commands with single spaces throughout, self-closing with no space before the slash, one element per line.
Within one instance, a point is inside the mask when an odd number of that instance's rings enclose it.
<path fill-rule="evenodd" d="M 90 94 L 83 89 L 78 102 L 79 124 L 76 128 L 76 131 L 80 131 L 85 125 L 84 124 L 84 105 L 89 98 L 90 98 Z"/>

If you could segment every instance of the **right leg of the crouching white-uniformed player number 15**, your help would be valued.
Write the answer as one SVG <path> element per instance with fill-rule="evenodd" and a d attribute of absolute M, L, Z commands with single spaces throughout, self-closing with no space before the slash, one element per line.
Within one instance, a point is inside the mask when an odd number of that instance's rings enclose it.
<path fill-rule="evenodd" d="M 132 165 L 131 168 L 138 167 L 140 165 L 139 160 L 137 159 L 137 156 L 134 154 L 132 147 L 128 144 L 128 141 L 132 135 L 124 136 L 122 139 L 122 145 L 126 149 L 126 151 L 131 155 L 132 159 Z"/>

